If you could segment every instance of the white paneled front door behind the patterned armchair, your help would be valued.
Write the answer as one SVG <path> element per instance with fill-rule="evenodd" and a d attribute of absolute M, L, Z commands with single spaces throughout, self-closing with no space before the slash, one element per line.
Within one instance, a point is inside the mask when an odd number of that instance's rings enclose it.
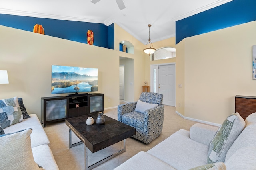
<path fill-rule="evenodd" d="M 164 95 L 163 104 L 175 106 L 175 64 L 158 68 L 158 92 Z"/>

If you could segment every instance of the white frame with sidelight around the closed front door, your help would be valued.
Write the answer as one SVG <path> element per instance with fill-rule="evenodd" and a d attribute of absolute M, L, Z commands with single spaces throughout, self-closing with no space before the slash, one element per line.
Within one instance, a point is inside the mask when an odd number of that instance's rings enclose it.
<path fill-rule="evenodd" d="M 175 74 L 175 77 L 174 77 L 174 84 L 175 84 L 175 87 L 174 87 L 174 90 L 175 90 L 175 96 L 174 96 L 174 100 L 176 101 L 176 62 L 173 62 L 173 63 L 162 63 L 162 64 L 151 64 L 150 65 L 150 92 L 154 92 L 154 88 L 153 88 L 153 84 L 154 84 L 154 74 L 153 74 L 153 70 L 156 69 L 156 93 L 158 93 L 158 80 L 159 80 L 159 66 L 165 66 L 165 65 L 172 65 L 174 64 L 175 66 L 175 70 L 174 70 L 174 74 Z M 174 106 L 176 107 L 176 102 L 174 104 Z"/>

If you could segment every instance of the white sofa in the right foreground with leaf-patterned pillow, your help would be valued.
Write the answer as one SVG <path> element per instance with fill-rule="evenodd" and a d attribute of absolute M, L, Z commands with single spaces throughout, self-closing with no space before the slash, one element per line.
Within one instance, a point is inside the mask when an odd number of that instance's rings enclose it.
<path fill-rule="evenodd" d="M 239 121 L 244 120 L 240 117 Z M 243 126 L 243 122 L 240 125 Z M 212 153 L 209 150 L 218 135 L 223 135 L 223 126 L 224 123 L 220 128 L 197 123 L 190 131 L 180 129 L 147 152 L 139 152 L 115 170 L 256 170 L 256 113 L 246 118 L 242 132 L 238 129 L 231 131 L 231 139 L 234 133 L 238 137 L 234 135 L 232 140 L 225 139 L 224 142 L 229 143 L 222 146 L 222 149 L 226 149 L 220 156 L 222 160 L 212 164 L 208 162 L 208 155 Z"/>

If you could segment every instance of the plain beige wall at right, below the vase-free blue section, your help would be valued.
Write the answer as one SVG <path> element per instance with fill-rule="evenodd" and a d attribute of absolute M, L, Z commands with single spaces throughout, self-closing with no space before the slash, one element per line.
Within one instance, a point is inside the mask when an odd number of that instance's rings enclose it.
<path fill-rule="evenodd" d="M 184 109 L 176 111 L 220 124 L 234 113 L 236 95 L 256 96 L 256 80 L 252 80 L 255 30 L 256 21 L 189 37 L 176 45 L 176 83 L 184 80 L 183 90 L 176 88 L 176 104 L 184 103 Z"/>

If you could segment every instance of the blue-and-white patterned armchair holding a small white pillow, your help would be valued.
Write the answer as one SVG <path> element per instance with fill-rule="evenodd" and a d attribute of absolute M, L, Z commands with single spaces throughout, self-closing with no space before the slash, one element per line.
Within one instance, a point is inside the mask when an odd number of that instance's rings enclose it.
<path fill-rule="evenodd" d="M 134 111 L 137 102 L 120 104 L 117 113 L 118 121 L 136 128 L 136 135 L 132 137 L 144 143 L 150 143 L 162 133 L 164 122 L 163 95 L 142 92 L 139 100 L 150 104 L 158 104 L 158 106 L 140 113 Z"/>

